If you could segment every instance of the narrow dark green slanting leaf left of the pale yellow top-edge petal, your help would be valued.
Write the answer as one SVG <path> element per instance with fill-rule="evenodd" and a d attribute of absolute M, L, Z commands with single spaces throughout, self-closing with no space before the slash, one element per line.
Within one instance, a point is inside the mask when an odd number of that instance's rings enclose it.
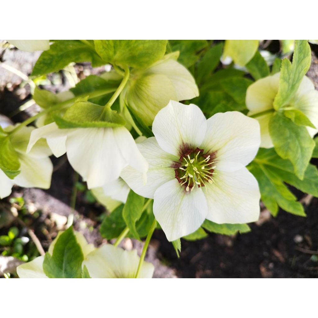
<path fill-rule="evenodd" d="M 202 83 L 215 70 L 220 63 L 223 52 L 223 43 L 212 46 L 205 52 L 202 59 L 197 64 L 196 81 Z"/>

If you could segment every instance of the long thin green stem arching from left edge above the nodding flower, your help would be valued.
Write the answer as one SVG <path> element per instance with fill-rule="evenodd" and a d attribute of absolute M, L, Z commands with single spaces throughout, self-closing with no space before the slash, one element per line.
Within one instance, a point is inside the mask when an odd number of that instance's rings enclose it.
<path fill-rule="evenodd" d="M 35 121 L 36 119 L 38 119 L 39 117 L 51 112 L 51 111 L 54 111 L 54 110 L 57 110 L 57 109 L 60 109 L 60 108 L 63 108 L 63 107 L 66 107 L 66 106 L 69 106 L 70 104 L 73 104 L 76 100 L 78 100 L 79 98 L 83 98 L 83 97 L 87 97 L 89 96 L 89 98 L 93 98 L 93 97 L 99 97 L 99 96 L 102 96 L 102 95 L 106 95 L 108 93 L 112 93 L 115 91 L 115 88 L 108 88 L 108 89 L 99 89 L 99 90 L 96 90 L 92 93 L 83 93 L 83 94 L 80 94 L 80 95 L 77 95 L 76 97 L 74 98 L 71 98 L 69 100 L 65 100 L 59 104 L 56 104 L 52 107 L 49 107 L 49 108 L 46 108 L 44 109 L 42 112 L 39 112 L 38 114 L 26 119 L 24 122 L 22 122 L 19 126 L 17 126 L 16 128 L 14 128 L 13 130 L 10 131 L 9 135 L 13 135 L 15 134 L 18 130 L 20 130 L 22 127 L 25 127 L 29 124 L 31 124 L 31 122 Z"/>

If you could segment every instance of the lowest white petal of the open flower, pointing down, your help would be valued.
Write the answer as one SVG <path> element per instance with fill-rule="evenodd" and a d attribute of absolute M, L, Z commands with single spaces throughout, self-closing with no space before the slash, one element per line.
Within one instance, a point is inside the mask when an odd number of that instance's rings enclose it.
<path fill-rule="evenodd" d="M 169 241 L 195 232 L 207 215 L 201 188 L 185 191 L 177 179 L 160 186 L 154 195 L 153 211 Z"/>

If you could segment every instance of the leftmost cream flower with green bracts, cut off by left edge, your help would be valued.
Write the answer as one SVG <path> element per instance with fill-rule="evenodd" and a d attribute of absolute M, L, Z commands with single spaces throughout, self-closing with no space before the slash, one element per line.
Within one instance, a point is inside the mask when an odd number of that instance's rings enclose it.
<path fill-rule="evenodd" d="M 16 126 L 17 127 L 17 126 Z M 23 127 L 10 135 L 15 126 L 9 125 L 0 131 L 1 161 L 8 160 L 19 171 L 0 169 L 0 198 L 10 195 L 12 186 L 48 189 L 51 186 L 53 165 L 48 156 L 52 154 L 45 140 L 35 143 L 32 151 L 26 151 L 33 127 Z M 9 134 L 9 135 L 7 135 Z M 4 170 L 3 170 L 4 169 Z"/>

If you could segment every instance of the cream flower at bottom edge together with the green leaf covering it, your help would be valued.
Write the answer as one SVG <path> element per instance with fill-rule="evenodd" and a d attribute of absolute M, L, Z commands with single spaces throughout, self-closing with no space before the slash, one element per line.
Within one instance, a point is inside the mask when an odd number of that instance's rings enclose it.
<path fill-rule="evenodd" d="M 17 274 L 20 278 L 134 278 L 138 265 L 136 250 L 110 244 L 95 248 L 69 228 L 59 232 L 45 256 L 18 266 Z M 154 266 L 143 262 L 137 278 L 152 278 L 153 273 Z"/>

